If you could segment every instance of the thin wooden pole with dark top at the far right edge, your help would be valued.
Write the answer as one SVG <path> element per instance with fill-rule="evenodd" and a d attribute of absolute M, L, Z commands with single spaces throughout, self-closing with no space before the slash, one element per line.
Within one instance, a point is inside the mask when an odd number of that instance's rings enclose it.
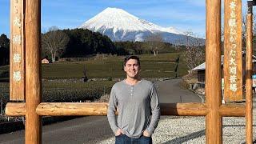
<path fill-rule="evenodd" d="M 253 143 L 253 103 L 252 103 L 252 42 L 253 14 L 252 6 L 248 5 L 246 23 L 246 143 Z"/>

